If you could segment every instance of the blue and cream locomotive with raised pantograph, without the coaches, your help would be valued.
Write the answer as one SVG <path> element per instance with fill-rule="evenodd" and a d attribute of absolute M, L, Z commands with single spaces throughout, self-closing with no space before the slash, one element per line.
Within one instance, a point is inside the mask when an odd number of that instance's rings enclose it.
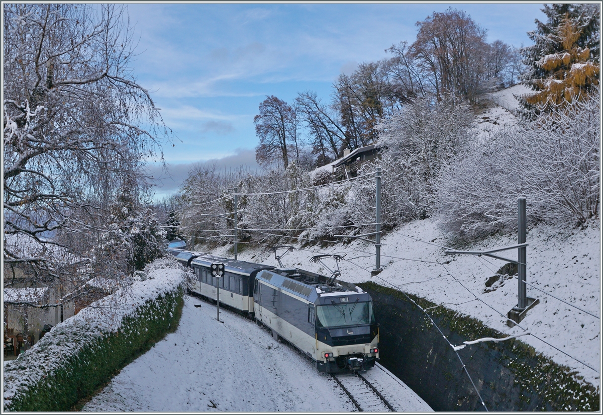
<path fill-rule="evenodd" d="M 314 360 L 319 372 L 366 370 L 379 359 L 379 328 L 368 293 L 298 268 L 257 274 L 256 321 Z"/>

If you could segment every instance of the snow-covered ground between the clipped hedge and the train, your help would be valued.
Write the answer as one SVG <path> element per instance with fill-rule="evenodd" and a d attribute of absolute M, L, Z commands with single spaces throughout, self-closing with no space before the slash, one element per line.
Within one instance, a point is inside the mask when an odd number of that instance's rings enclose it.
<path fill-rule="evenodd" d="M 126 366 L 83 411 L 355 411 L 335 381 L 292 347 L 239 315 L 220 318 L 224 323 L 216 322 L 215 306 L 186 296 L 177 331 Z M 431 410 L 402 382 L 394 394 L 399 408 Z"/>

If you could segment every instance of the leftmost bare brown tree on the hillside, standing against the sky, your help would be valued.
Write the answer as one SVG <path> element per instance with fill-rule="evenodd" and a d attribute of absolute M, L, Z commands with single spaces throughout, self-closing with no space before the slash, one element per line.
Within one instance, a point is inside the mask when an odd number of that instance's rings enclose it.
<path fill-rule="evenodd" d="M 253 122 L 260 139 L 256 147 L 257 162 L 282 162 L 287 168 L 291 153 L 299 154 L 295 108 L 271 95 L 260 103 L 259 114 L 254 116 Z"/>

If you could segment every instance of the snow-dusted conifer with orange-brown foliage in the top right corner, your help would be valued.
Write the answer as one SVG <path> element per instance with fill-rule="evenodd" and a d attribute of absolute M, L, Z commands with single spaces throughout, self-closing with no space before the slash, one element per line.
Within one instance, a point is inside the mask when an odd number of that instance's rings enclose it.
<path fill-rule="evenodd" d="M 586 98 L 599 84 L 599 5 L 552 4 L 548 17 L 528 32 L 534 45 L 521 49 L 528 71 L 523 80 L 535 92 L 523 98 L 528 110 L 552 110 Z"/>

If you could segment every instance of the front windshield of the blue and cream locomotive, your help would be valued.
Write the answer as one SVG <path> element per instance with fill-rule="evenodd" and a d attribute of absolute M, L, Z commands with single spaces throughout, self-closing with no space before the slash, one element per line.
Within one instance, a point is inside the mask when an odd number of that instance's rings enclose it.
<path fill-rule="evenodd" d="M 374 323 L 373 302 L 362 301 L 316 307 L 318 327 L 356 326 Z"/>

